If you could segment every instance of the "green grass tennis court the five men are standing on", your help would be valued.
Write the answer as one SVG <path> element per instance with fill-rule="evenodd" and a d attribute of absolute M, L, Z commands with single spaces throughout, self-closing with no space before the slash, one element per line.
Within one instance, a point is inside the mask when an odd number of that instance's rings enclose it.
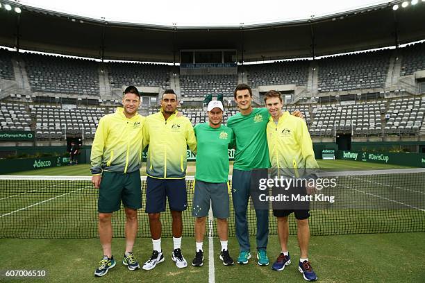
<path fill-rule="evenodd" d="M 363 162 L 347 162 L 341 160 L 319 160 L 319 163 L 322 168 L 331 167 L 351 170 L 365 170 L 365 165 L 370 165 Z M 190 165 L 194 166 L 193 164 Z M 373 164 L 367 168 L 406 168 L 403 166 L 377 165 L 378 164 Z M 89 166 L 87 164 L 81 164 L 78 166 L 66 166 L 54 169 L 22 172 L 17 173 L 17 175 L 90 175 L 90 171 L 88 171 L 88 169 Z M 356 181 L 357 184 L 362 184 L 362 182 Z M 370 182 L 375 181 L 369 180 L 369 184 L 365 184 L 365 187 L 378 189 L 384 193 L 386 189 L 388 194 L 390 194 L 391 190 L 394 189 L 392 187 L 386 187 L 385 180 L 381 180 L 379 182 L 381 185 L 371 184 Z M 410 180 L 410 182 L 417 182 L 417 180 Z M 397 187 L 408 189 L 408 185 L 406 185 L 406 187 L 402 186 L 402 183 L 397 183 Z M 45 187 L 47 186 L 44 184 L 42 187 L 37 187 L 35 189 L 46 190 L 44 189 Z M 361 187 L 361 185 L 359 187 Z M 354 189 L 360 189 L 359 187 Z M 87 203 L 88 196 L 80 194 L 80 192 L 83 191 L 85 191 L 85 189 L 72 193 L 77 194 L 77 196 L 72 197 L 72 200 L 78 201 L 79 203 Z M 69 209 L 66 208 L 67 197 L 69 195 L 58 197 L 61 194 L 68 193 L 69 190 L 56 191 L 55 194 L 49 194 L 44 191 L 44 194 L 37 194 L 37 199 L 30 198 L 30 201 L 27 203 L 15 202 L 12 204 L 14 206 L 7 207 L 0 213 L 3 215 L 24 207 L 33 209 L 35 207 L 29 206 L 34 205 L 35 203 L 40 203 L 40 205 L 37 205 L 36 207 L 44 207 L 45 209 L 45 207 L 49 207 L 50 203 L 55 203 L 49 208 L 49 212 L 51 212 L 50 217 L 47 217 L 45 213 L 32 213 L 25 216 L 24 211 L 23 214 L 19 216 L 19 221 L 22 221 L 20 224 L 26 225 L 27 228 L 28 225 L 32 225 L 33 233 L 38 230 L 47 231 L 48 228 L 51 227 L 63 228 L 64 226 L 67 226 L 67 228 L 69 228 L 69 233 L 71 233 L 71 235 L 68 236 L 72 236 L 73 231 L 81 228 L 89 229 L 92 225 L 85 226 L 83 219 L 75 219 L 76 213 L 69 211 Z M 370 191 L 367 191 L 367 193 L 371 194 Z M 27 194 L 31 193 L 27 192 Z M 10 196 L 10 191 L 7 196 L 3 191 L 1 191 L 0 199 Z M 412 196 L 412 194 L 408 194 L 407 196 Z M 14 198 L 16 197 L 17 196 Z M 386 197 L 388 197 L 388 195 Z M 49 200 L 51 198 L 52 200 Z M 68 200 L 70 199 L 71 198 L 68 198 Z M 44 200 L 49 201 L 41 203 Z M 412 205 L 414 203 L 411 202 L 415 201 L 415 199 L 410 197 L 409 199 L 397 199 L 396 201 Z M 374 203 L 368 203 L 367 205 L 373 207 Z M 96 211 L 93 207 L 88 205 L 85 209 L 84 214 L 92 214 L 95 218 Z M 405 207 L 405 209 L 410 208 Z M 417 209 L 412 210 L 417 211 Z M 345 214 L 347 215 L 347 218 L 340 219 L 339 221 L 342 222 L 339 223 L 331 217 L 332 214 L 329 214 L 330 212 L 326 210 L 317 210 L 315 212 L 315 216 L 322 220 L 317 225 L 320 225 L 320 229 L 322 230 L 336 229 L 338 228 L 338 225 L 347 225 L 347 227 L 352 227 L 355 230 L 358 228 L 354 226 L 359 223 L 356 219 L 358 220 L 361 218 L 367 221 L 368 218 L 370 218 L 370 214 L 367 209 L 363 209 L 361 211 L 359 209 L 351 209 L 345 212 L 347 213 Z M 16 212 L 15 214 L 20 213 L 21 212 Z M 141 212 L 140 216 L 143 214 L 144 212 Z M 117 214 L 115 218 L 122 218 L 122 216 L 123 214 Z M 2 218 L 6 217 L 7 216 L 3 216 Z M 70 219 L 73 221 L 70 221 Z M 0 218 L 0 222 L 1 220 L 2 219 Z M 394 211 L 392 214 L 387 214 L 387 218 L 383 221 L 387 221 L 387 223 L 394 223 L 397 228 L 397 223 L 402 223 L 403 221 L 408 220 L 409 219 L 400 217 L 397 211 Z M 270 222 L 274 221 L 274 218 L 270 218 Z M 70 223 L 74 224 L 69 225 Z M 291 221 L 291 223 L 294 224 L 294 221 Z M 417 225 L 424 225 L 424 223 L 424 218 L 417 219 Z M 115 230 L 122 232 L 122 225 L 117 224 L 118 223 L 115 223 Z M 378 225 L 378 223 L 376 224 Z M 1 225 L 3 226 L 3 223 Z M 231 229 L 234 227 L 233 219 L 230 219 L 229 225 L 229 228 Z M 140 218 L 140 227 L 143 234 L 149 233 L 147 218 Z M 253 225 L 250 225 L 250 229 L 252 228 Z M 291 228 L 293 230 L 294 225 L 292 225 Z M 184 229 L 193 230 L 193 226 L 185 226 Z M 373 225 L 367 229 L 369 229 L 369 231 L 363 232 L 374 232 Z M 59 232 L 59 230 L 60 229 L 58 229 L 57 232 Z M 170 232 L 171 227 L 164 225 L 163 230 L 164 232 Z M 95 234 L 96 230 L 91 232 Z M 391 232 L 391 230 L 385 232 Z M 54 231 L 52 233 L 53 237 L 59 236 L 55 235 Z M 75 236 L 78 237 L 78 235 Z M 289 242 L 292 264 L 288 266 L 288 268 L 285 268 L 285 271 L 282 272 L 272 271 L 270 266 L 258 266 L 256 261 L 253 261 L 253 259 L 250 260 L 250 263 L 247 266 L 223 266 L 221 261 L 218 259 L 219 240 L 214 238 L 213 243 L 215 251 L 213 255 L 213 274 L 216 282 L 240 282 L 241 280 L 256 280 L 258 282 L 304 282 L 297 271 L 296 263 L 299 258 L 299 250 L 297 248 L 297 239 L 293 235 L 290 236 Z M 204 241 L 204 257 L 206 257 L 206 260 L 204 261 L 204 266 L 201 268 L 194 268 L 192 266 L 184 269 L 176 268 L 170 259 L 172 239 L 163 238 L 165 262 L 158 265 L 153 271 L 140 270 L 135 272 L 128 271 L 124 268 L 124 266 L 122 266 L 122 264 L 120 264 L 120 261 L 122 260 L 122 250 L 124 249 L 124 239 L 114 239 L 113 254 L 117 259 L 117 266 L 113 268 L 108 275 L 101 278 L 93 277 L 94 268 L 97 266 L 97 262 L 101 257 L 99 239 L 0 239 L 0 247 L 3 256 L 8 259 L 1 261 L 1 271 L 9 268 L 46 270 L 47 277 L 43 280 L 43 282 L 71 282 L 77 280 L 81 282 L 208 282 L 208 278 L 210 278 L 209 268 L 211 266 L 211 262 L 208 260 L 208 238 Z M 251 248 L 255 248 L 255 237 L 251 237 Z M 183 238 L 182 250 L 183 255 L 185 255 L 188 262 L 192 261 L 192 257 L 194 256 L 194 239 L 192 237 Z M 238 254 L 238 243 L 235 237 L 231 237 L 229 239 L 229 250 L 235 259 Z M 151 254 L 151 240 L 149 238 L 138 239 L 134 252 L 140 262 L 145 261 Z M 268 255 L 271 262 L 276 259 L 278 252 L 279 245 L 277 236 L 271 235 L 269 237 L 268 245 Z M 425 232 L 348 234 L 339 236 L 313 236 L 310 241 L 309 259 L 319 276 L 319 280 L 322 282 L 422 282 L 425 277 L 425 272 L 422 271 L 422 268 L 418 268 L 417 264 L 423 261 L 424 254 Z M 3 279 L 5 278 L 1 277 L 2 282 Z M 40 280 L 33 281 L 40 282 Z M 32 281 L 21 279 L 20 281 L 13 280 L 12 282 Z"/>

